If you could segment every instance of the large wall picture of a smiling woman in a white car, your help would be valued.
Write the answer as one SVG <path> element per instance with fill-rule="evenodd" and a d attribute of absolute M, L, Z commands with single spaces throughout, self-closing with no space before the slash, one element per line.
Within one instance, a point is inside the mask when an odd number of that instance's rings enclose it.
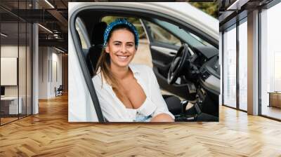
<path fill-rule="evenodd" d="M 216 18 L 187 2 L 68 13 L 70 122 L 218 121 Z"/>

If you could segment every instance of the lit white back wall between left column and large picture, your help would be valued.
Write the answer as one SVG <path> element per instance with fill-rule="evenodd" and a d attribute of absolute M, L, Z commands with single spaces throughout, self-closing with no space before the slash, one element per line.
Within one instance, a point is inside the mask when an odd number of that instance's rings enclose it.
<path fill-rule="evenodd" d="M 39 47 L 39 99 L 55 97 L 55 88 L 61 84 L 61 53 L 55 48 Z"/>

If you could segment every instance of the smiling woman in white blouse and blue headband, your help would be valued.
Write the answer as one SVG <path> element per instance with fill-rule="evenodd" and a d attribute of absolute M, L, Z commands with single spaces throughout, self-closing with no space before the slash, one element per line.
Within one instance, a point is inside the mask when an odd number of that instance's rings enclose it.
<path fill-rule="evenodd" d="M 107 121 L 173 122 L 150 67 L 130 64 L 138 48 L 138 32 L 117 19 L 105 29 L 93 84 Z"/>

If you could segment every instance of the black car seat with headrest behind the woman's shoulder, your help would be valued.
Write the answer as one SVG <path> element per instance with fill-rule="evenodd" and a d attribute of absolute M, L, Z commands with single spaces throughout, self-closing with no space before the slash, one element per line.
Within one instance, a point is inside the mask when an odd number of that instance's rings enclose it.
<path fill-rule="evenodd" d="M 103 34 L 107 24 L 105 22 L 98 22 L 93 27 L 93 34 L 91 39 L 91 48 L 86 56 L 86 64 L 89 69 L 90 75 L 93 76 L 96 74 L 96 64 L 98 58 L 100 57 L 101 51 L 103 50 Z"/>

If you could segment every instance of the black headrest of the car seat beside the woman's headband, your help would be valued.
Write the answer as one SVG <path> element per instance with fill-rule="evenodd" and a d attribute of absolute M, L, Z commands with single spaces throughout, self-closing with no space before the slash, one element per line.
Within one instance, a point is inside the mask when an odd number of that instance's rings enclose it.
<path fill-rule="evenodd" d="M 98 22 L 93 27 L 92 44 L 94 45 L 103 44 L 103 34 L 105 33 L 106 27 L 107 27 L 106 22 Z"/>

